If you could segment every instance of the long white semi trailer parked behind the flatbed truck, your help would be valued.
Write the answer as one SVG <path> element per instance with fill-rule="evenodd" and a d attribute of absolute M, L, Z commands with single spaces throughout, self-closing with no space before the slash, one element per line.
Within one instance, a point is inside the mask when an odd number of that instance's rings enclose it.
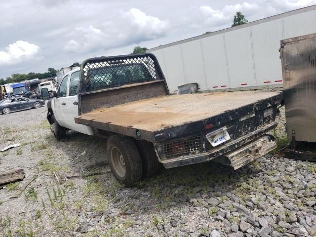
<path fill-rule="evenodd" d="M 171 93 L 197 82 L 199 90 L 281 86 L 279 42 L 316 33 L 316 5 L 151 48 Z"/>

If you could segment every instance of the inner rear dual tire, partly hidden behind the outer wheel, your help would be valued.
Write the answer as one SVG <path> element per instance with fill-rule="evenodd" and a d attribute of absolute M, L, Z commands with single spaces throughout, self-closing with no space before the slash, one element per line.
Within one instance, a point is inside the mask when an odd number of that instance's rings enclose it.
<path fill-rule="evenodd" d="M 154 144 L 144 140 L 136 140 L 136 146 L 143 163 L 143 177 L 150 178 L 157 174 L 159 168 L 158 157 Z"/>

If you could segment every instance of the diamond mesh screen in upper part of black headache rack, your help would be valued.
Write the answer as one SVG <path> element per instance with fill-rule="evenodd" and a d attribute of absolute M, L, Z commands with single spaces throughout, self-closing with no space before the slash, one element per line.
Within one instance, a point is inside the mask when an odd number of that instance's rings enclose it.
<path fill-rule="evenodd" d="M 83 71 L 81 92 L 158 80 L 154 60 L 150 56 L 103 62 L 92 60 L 84 65 Z"/>

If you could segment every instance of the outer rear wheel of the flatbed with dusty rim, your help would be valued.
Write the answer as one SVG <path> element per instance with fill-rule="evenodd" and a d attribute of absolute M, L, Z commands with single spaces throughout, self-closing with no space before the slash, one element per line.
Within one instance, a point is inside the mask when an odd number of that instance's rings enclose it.
<path fill-rule="evenodd" d="M 142 179 L 142 159 L 132 138 L 111 136 L 107 142 L 107 157 L 115 178 L 126 187 Z"/>

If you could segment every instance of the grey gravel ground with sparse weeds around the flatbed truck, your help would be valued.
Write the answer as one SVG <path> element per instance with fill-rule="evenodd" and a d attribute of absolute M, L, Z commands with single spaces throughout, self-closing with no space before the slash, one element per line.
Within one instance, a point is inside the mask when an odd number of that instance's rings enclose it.
<path fill-rule="evenodd" d="M 163 169 L 133 188 L 111 173 L 67 179 L 109 170 L 106 141 L 70 132 L 57 143 L 45 115 L 45 107 L 0 115 L 1 148 L 21 143 L 0 154 L 0 172 L 26 172 L 0 190 L 0 236 L 316 235 L 315 163 L 269 154 L 235 171 L 208 162 Z"/>

